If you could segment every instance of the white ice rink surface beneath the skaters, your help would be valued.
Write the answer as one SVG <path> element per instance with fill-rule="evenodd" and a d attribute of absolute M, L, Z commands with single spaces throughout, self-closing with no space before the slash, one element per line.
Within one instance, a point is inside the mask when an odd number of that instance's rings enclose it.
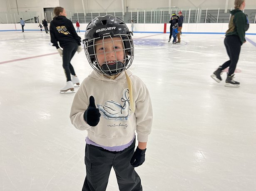
<path fill-rule="evenodd" d="M 87 132 L 70 123 L 75 94 L 59 93 L 62 58 L 44 32 L 0 34 L 0 190 L 80 191 Z M 226 73 L 210 77 L 228 60 L 223 34 L 183 34 L 175 45 L 169 34 L 134 34 L 130 69 L 154 109 L 136 168 L 144 191 L 256 190 L 256 36 L 246 37 L 232 88 Z M 92 71 L 83 52 L 71 63 L 81 81 Z M 107 191 L 118 191 L 113 171 Z"/>

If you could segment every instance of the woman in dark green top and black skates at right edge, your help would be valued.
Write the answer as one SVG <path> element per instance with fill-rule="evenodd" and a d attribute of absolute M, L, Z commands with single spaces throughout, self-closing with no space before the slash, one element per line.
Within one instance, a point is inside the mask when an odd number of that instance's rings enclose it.
<path fill-rule="evenodd" d="M 245 7 L 245 0 L 235 0 L 235 9 L 232 10 L 231 19 L 229 21 L 229 29 L 226 31 L 226 37 L 224 44 L 226 51 L 229 55 L 228 61 L 214 71 L 211 77 L 216 82 L 221 82 L 222 70 L 229 67 L 229 73 L 227 73 L 226 87 L 239 87 L 240 83 L 233 80 L 236 64 L 239 59 L 241 46 L 246 42 L 245 31 L 249 29 L 249 22 L 246 15 L 243 13 Z"/>

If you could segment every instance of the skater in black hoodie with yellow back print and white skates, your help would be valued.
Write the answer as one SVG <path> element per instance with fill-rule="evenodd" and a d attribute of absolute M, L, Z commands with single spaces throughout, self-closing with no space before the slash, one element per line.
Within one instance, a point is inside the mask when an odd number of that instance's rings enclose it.
<path fill-rule="evenodd" d="M 82 51 L 81 38 L 77 35 L 72 22 L 66 18 L 67 13 L 63 7 L 55 7 L 55 17 L 50 23 L 50 35 L 52 46 L 57 48 L 63 61 L 63 68 L 67 77 L 67 84 L 60 89 L 60 93 L 65 93 L 68 90 L 74 91 L 74 84 L 80 85 L 80 81 L 75 74 L 75 70 L 70 63 L 70 60 L 75 55 L 75 52 Z M 58 42 L 60 46 L 58 45 Z M 61 48 L 63 48 L 63 51 Z M 72 75 L 72 79 L 71 76 Z"/>

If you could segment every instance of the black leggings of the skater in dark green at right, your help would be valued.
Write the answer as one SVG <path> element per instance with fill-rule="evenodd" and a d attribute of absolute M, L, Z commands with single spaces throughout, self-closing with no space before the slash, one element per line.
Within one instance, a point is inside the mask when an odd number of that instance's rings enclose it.
<path fill-rule="evenodd" d="M 236 64 L 239 59 L 239 54 L 241 50 L 241 41 L 238 36 L 226 36 L 224 40 L 224 44 L 226 47 L 226 51 L 229 55 L 228 61 L 226 61 L 222 66 L 221 69 L 224 70 L 225 68 L 229 67 L 229 76 L 234 74 L 236 70 Z"/>

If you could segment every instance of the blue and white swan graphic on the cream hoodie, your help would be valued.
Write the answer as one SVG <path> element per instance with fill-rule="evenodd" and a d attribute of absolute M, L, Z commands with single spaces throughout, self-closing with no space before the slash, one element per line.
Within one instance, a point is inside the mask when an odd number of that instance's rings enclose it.
<path fill-rule="evenodd" d="M 125 88 L 123 90 L 122 98 L 120 99 L 122 104 L 111 100 L 104 102 L 104 106 L 97 104 L 99 111 L 106 119 L 113 119 L 115 121 L 127 120 L 129 118 L 129 90 Z"/>

